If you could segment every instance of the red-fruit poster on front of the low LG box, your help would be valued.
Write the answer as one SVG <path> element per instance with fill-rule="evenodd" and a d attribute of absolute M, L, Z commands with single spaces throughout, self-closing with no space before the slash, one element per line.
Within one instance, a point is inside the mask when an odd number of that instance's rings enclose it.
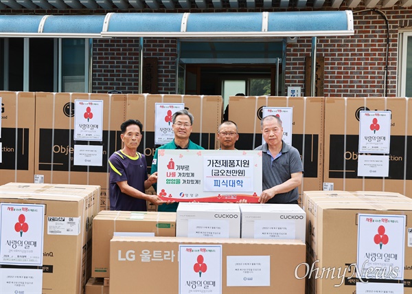
<path fill-rule="evenodd" d="M 179 245 L 179 294 L 222 293 L 222 245 Z"/>

